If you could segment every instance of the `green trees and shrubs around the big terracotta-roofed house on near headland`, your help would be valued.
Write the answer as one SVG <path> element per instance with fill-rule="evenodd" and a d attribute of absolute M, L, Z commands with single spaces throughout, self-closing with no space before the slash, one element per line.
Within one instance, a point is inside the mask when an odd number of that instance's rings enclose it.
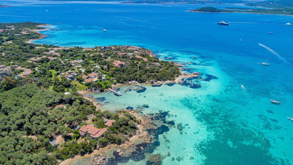
<path fill-rule="evenodd" d="M 90 114 L 98 128 L 106 127 L 103 118 L 116 120 L 103 138 L 80 137 L 79 131 L 71 131 L 77 124 L 86 124 Z M 57 159 L 91 153 L 97 143 L 105 147 L 108 142 L 125 142 L 136 134 L 139 122 L 129 112 L 95 111 L 95 106 L 79 95 L 41 90 L 35 84 L 16 87 L 0 94 L 0 164 L 57 164 Z M 65 140 L 60 149 L 48 143 L 58 135 Z"/>

